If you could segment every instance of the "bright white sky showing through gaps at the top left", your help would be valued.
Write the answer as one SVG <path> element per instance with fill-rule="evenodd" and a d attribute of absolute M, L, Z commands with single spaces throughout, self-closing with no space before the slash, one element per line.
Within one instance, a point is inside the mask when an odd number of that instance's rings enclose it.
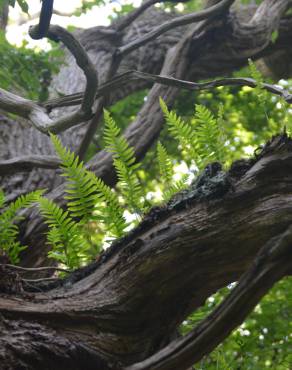
<path fill-rule="evenodd" d="M 133 2 L 133 1 L 132 1 Z M 40 11 L 41 3 L 40 0 L 28 0 L 29 5 L 29 14 L 35 14 Z M 107 5 L 101 7 L 93 7 L 93 9 L 80 17 L 60 17 L 53 15 L 52 24 L 58 24 L 63 27 L 68 25 L 74 25 L 76 27 L 89 28 L 98 25 L 108 25 L 108 17 L 112 13 L 114 8 L 119 8 L 121 3 L 127 3 L 127 0 L 113 1 L 108 2 Z M 139 4 L 140 0 L 134 1 L 134 4 Z M 135 5 L 136 5 L 135 4 Z M 74 11 L 77 7 L 81 5 L 81 0 L 55 0 L 54 8 L 59 11 L 70 13 Z M 10 22 L 7 28 L 7 38 L 9 42 L 19 45 L 23 39 L 29 41 L 29 46 L 37 46 L 42 48 L 47 48 L 48 43 L 45 40 L 42 41 L 32 41 L 27 35 L 28 27 L 32 24 L 38 22 L 37 19 L 26 22 L 22 25 L 19 25 L 19 20 L 25 18 L 25 14 L 21 12 L 21 9 L 18 6 L 15 8 L 10 8 Z"/>

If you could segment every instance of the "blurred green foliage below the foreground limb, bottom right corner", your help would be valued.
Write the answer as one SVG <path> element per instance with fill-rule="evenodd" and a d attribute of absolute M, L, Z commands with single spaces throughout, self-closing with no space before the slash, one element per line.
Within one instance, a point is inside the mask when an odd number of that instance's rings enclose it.
<path fill-rule="evenodd" d="M 232 286 L 223 288 L 207 299 L 206 304 L 182 324 L 187 334 L 200 320 L 210 314 L 226 297 Z M 256 306 L 245 322 L 211 354 L 197 369 L 288 370 L 292 364 L 292 279 L 278 282 Z"/>

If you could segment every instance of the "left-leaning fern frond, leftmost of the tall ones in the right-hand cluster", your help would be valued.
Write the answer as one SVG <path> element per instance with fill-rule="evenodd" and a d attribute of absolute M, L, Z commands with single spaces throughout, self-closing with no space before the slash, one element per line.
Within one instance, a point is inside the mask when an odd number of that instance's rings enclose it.
<path fill-rule="evenodd" d="M 174 111 L 169 111 L 165 102 L 160 98 L 160 106 L 163 111 L 170 134 L 179 141 L 183 151 L 196 156 L 195 132 L 193 126 L 183 121 Z"/>

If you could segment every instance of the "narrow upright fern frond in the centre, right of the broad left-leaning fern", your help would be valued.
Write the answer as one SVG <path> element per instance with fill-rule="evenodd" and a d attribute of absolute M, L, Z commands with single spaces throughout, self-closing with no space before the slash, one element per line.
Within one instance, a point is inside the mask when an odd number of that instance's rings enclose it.
<path fill-rule="evenodd" d="M 104 111 L 104 119 L 106 150 L 113 155 L 121 193 L 130 210 L 134 213 L 140 213 L 143 210 L 143 193 L 137 176 L 139 164 L 135 163 L 134 150 L 120 134 L 120 129 L 106 110 Z"/>

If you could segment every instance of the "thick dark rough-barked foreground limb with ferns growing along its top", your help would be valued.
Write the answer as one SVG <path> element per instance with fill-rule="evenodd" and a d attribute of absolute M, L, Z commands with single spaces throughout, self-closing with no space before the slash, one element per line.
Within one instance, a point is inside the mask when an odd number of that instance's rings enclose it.
<path fill-rule="evenodd" d="M 240 323 L 292 271 L 291 153 L 292 141 L 282 135 L 228 173 L 209 166 L 188 191 L 64 281 L 23 283 L 22 291 L 12 274 L 0 288 L 2 368 L 119 369 L 143 361 L 210 294 L 251 271 L 243 279 L 243 292 L 252 288 L 243 295 L 249 303 L 236 308 Z M 2 281 L 7 275 L 2 269 Z M 225 318 L 220 330 L 231 321 Z M 153 369 L 187 368 L 176 361 Z M 140 368 L 152 367 L 129 367 Z"/>

